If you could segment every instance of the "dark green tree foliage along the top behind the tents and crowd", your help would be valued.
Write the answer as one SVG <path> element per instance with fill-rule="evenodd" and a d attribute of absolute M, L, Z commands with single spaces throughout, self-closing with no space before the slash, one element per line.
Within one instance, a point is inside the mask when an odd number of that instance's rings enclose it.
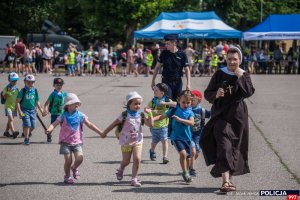
<path fill-rule="evenodd" d="M 262 3 L 262 4 L 261 4 Z M 10 0 L 0 3 L 0 35 L 39 33 L 50 19 L 83 43 L 100 40 L 129 45 L 133 31 L 161 12 L 215 11 L 225 23 L 247 30 L 269 14 L 300 13 L 295 0 Z"/>

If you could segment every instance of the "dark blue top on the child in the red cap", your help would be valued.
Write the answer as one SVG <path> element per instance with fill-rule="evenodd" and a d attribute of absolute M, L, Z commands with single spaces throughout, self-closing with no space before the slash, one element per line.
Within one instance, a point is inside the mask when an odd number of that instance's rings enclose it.
<path fill-rule="evenodd" d="M 192 111 L 195 115 L 195 124 L 192 128 L 192 133 L 193 135 L 200 135 L 205 125 L 205 118 L 210 118 L 210 111 L 204 109 L 205 116 L 202 116 L 202 107 L 200 104 L 196 107 L 193 107 Z"/>

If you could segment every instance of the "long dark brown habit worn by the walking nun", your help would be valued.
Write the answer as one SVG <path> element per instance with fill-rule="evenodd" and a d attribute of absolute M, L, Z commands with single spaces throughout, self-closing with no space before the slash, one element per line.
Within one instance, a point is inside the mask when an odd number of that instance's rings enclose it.
<path fill-rule="evenodd" d="M 222 87 L 225 96 L 216 99 Z M 227 67 L 215 72 L 204 91 L 204 97 L 212 103 L 212 118 L 204 127 L 200 146 L 207 165 L 214 164 L 211 175 L 221 177 L 250 173 L 248 165 L 248 109 L 245 98 L 254 93 L 250 76 L 244 72 L 238 78 Z"/>

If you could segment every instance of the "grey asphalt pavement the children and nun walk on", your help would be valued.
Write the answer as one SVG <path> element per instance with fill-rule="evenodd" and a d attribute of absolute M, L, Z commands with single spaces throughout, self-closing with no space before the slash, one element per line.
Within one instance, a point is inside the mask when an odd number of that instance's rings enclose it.
<path fill-rule="evenodd" d="M 139 92 L 145 106 L 153 97 L 151 77 L 62 77 L 63 89 L 79 95 L 80 111 L 100 129 L 105 129 L 123 110 L 129 91 Z M 53 77 L 38 75 L 36 87 L 44 104 L 52 92 Z M 210 77 L 193 77 L 192 88 L 204 91 Z M 159 77 L 157 78 L 159 81 Z M 64 158 L 59 155 L 59 127 L 53 132 L 53 142 L 39 122 L 30 146 L 22 145 L 23 138 L 3 137 L 6 126 L 4 107 L 0 115 L 0 199 L 286 199 L 260 197 L 259 190 L 300 189 L 300 76 L 253 75 L 255 94 L 246 100 L 249 110 L 251 173 L 234 177 L 238 193 L 219 195 L 220 178 L 210 175 L 211 166 L 202 156 L 196 161 L 197 177 L 186 184 L 180 175 L 179 156 L 170 145 L 170 163 L 162 164 L 161 144 L 157 146 L 157 161 L 148 155 L 151 137 L 143 127 L 144 144 L 139 176 L 141 188 L 130 186 L 131 166 L 122 181 L 115 176 L 121 160 L 120 146 L 114 131 L 106 139 L 84 127 L 84 161 L 79 168 L 81 179 L 74 185 L 63 183 Z M 0 75 L 0 87 L 7 84 L 7 75 Z M 23 87 L 23 81 L 18 87 Z M 205 108 L 210 108 L 203 101 Z M 43 118 L 46 125 L 50 117 Z M 21 131 L 21 120 L 15 126 Z"/>

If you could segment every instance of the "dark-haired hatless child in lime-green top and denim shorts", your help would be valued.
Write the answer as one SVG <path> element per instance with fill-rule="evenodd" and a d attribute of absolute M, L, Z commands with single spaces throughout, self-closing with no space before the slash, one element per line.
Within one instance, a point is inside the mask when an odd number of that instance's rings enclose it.
<path fill-rule="evenodd" d="M 154 98 L 149 102 L 148 106 L 151 108 L 154 116 L 165 114 L 168 110 L 168 106 L 161 104 L 161 102 L 168 101 L 166 94 L 168 93 L 168 86 L 164 83 L 158 83 L 154 87 Z M 150 159 L 156 160 L 155 147 L 161 141 L 163 149 L 163 164 L 169 162 L 168 159 L 168 124 L 167 118 L 154 121 L 153 127 L 150 128 L 152 135 L 151 149 L 149 150 Z"/>

